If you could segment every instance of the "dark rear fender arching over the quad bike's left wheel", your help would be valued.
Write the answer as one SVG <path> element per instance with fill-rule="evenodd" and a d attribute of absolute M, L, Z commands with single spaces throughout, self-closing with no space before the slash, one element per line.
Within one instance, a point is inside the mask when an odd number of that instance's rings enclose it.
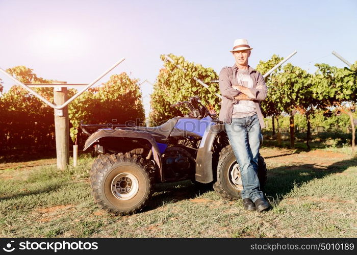
<path fill-rule="evenodd" d="M 146 139 L 151 144 L 152 155 L 154 156 L 154 160 L 159 167 L 161 181 L 164 181 L 164 176 L 162 172 L 162 163 L 161 163 L 161 153 L 157 142 L 151 134 L 144 131 L 127 131 L 127 130 L 119 130 L 119 129 L 100 129 L 97 132 L 93 133 L 90 137 L 88 137 L 84 149 L 88 149 L 91 145 L 96 142 L 99 142 L 100 138 L 103 137 L 129 137 L 129 138 L 140 138 Z"/>

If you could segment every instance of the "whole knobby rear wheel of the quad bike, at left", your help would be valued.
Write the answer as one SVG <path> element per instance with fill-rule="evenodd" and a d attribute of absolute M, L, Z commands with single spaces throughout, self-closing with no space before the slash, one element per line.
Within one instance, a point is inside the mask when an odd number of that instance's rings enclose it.
<path fill-rule="evenodd" d="M 145 206 L 154 188 L 154 173 L 136 155 L 99 155 L 90 170 L 90 181 L 101 209 L 126 215 Z"/>

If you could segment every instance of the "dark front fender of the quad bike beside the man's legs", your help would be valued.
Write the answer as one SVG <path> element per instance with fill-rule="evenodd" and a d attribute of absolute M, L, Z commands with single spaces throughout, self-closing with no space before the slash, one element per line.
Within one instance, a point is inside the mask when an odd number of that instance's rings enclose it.
<path fill-rule="evenodd" d="M 212 145 L 219 132 L 224 131 L 224 124 L 207 127 L 197 151 L 195 180 L 200 183 L 213 182 Z"/>

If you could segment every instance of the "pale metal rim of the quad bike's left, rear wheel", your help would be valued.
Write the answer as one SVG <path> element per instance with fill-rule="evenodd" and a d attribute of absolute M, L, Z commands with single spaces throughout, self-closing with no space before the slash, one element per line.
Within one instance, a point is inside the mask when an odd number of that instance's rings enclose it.
<path fill-rule="evenodd" d="M 120 200 L 132 199 L 139 190 L 139 181 L 131 173 L 119 173 L 112 181 L 112 193 Z"/>

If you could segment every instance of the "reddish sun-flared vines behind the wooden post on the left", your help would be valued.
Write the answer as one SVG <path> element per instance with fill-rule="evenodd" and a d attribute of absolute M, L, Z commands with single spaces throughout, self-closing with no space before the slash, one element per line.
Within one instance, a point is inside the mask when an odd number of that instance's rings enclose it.
<path fill-rule="evenodd" d="M 25 66 L 6 70 L 22 83 L 55 83 L 37 77 Z M 138 79 L 132 79 L 125 72 L 114 74 L 109 81 L 99 87 L 90 88 L 68 105 L 70 137 L 78 143 L 80 122 L 85 123 L 125 123 L 144 121 L 142 94 Z M 0 87 L 2 88 L 2 87 Z M 49 101 L 53 101 L 53 88 L 33 88 Z M 0 96 L 0 148 L 30 149 L 55 147 L 54 110 L 20 86 L 12 86 L 9 91 L 1 90 Z M 68 97 L 77 93 L 68 90 Z"/>

